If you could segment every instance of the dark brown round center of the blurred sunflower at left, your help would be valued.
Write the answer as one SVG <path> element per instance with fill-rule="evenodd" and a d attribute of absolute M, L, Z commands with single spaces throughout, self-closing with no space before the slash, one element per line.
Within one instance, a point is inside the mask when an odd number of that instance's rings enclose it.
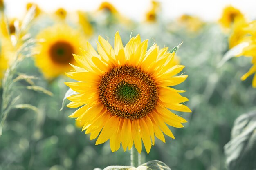
<path fill-rule="evenodd" d="M 51 59 L 56 64 L 69 64 L 73 60 L 74 48 L 69 42 L 55 42 L 49 49 Z"/>

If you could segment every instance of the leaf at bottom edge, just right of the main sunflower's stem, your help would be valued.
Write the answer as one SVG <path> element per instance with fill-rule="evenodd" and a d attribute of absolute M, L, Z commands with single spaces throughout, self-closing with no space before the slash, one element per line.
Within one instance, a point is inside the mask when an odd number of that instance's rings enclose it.
<path fill-rule="evenodd" d="M 171 170 L 165 163 L 157 160 L 142 164 L 136 170 Z"/>

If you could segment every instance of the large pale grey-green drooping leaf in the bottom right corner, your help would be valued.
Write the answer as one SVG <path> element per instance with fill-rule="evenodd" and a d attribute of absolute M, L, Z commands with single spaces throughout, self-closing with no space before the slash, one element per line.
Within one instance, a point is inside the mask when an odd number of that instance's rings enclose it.
<path fill-rule="evenodd" d="M 234 122 L 231 140 L 224 146 L 230 170 L 256 168 L 256 111 L 239 116 Z"/>

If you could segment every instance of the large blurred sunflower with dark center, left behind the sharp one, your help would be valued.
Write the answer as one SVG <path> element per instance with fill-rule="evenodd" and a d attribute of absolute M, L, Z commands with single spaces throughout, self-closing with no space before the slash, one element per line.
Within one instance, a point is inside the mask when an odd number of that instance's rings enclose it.
<path fill-rule="evenodd" d="M 85 47 L 86 41 L 75 29 L 66 24 L 57 24 L 42 30 L 37 35 L 36 65 L 47 79 L 52 79 L 69 71 L 74 64 L 73 53 L 80 53 L 79 46 Z M 54 69 L 52 69 L 54 68 Z"/>

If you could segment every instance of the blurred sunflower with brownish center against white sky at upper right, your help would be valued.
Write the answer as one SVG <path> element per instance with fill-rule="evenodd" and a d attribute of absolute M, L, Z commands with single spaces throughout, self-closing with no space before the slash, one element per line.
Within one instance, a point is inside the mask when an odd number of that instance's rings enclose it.
<path fill-rule="evenodd" d="M 223 28 L 229 29 L 237 20 L 245 20 L 244 15 L 238 9 L 227 6 L 223 9 L 219 23 Z"/>

